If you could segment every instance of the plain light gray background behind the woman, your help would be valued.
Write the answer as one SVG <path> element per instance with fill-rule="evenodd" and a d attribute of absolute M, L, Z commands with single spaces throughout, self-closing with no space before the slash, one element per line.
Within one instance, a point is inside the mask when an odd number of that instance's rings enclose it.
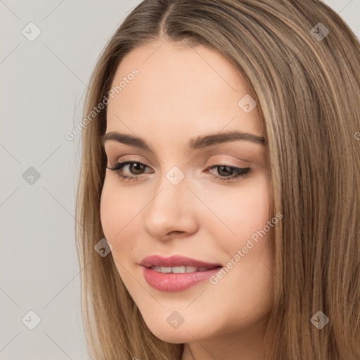
<path fill-rule="evenodd" d="M 325 2 L 360 38 L 360 0 Z M 74 236 L 80 136 L 65 133 L 82 120 L 105 42 L 139 3 L 0 0 L 0 360 L 89 359 Z"/>

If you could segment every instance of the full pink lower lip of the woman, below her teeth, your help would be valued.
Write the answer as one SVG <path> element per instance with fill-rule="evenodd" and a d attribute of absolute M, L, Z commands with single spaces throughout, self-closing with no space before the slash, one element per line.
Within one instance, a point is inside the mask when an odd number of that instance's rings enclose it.
<path fill-rule="evenodd" d="M 221 267 L 215 267 L 207 271 L 195 271 L 193 273 L 164 274 L 144 267 L 143 274 L 146 282 L 153 288 L 174 293 L 176 291 L 186 290 L 207 280 L 212 274 L 217 273 L 219 269 L 221 269 Z"/>

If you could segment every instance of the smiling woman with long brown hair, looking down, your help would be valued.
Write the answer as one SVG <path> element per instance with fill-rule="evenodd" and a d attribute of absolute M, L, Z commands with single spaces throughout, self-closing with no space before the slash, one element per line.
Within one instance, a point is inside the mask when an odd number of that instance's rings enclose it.
<path fill-rule="evenodd" d="M 359 359 L 359 93 L 321 1 L 134 8 L 84 109 L 92 359 Z"/>

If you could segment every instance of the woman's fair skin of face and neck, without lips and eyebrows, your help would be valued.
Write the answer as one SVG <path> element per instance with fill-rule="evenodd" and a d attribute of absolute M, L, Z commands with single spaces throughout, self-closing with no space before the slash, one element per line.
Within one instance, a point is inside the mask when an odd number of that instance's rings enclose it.
<path fill-rule="evenodd" d="M 238 105 L 250 90 L 221 53 L 205 46 L 141 46 L 122 60 L 113 86 L 133 68 L 139 75 L 108 104 L 106 132 L 139 136 L 154 152 L 105 142 L 108 167 L 125 160 L 146 165 L 142 173 L 125 166 L 123 174 L 138 176 L 130 181 L 106 170 L 101 224 L 117 270 L 151 332 L 185 343 L 182 360 L 259 359 L 273 305 L 269 233 L 216 285 L 165 293 L 148 285 L 139 265 L 149 255 L 184 255 L 226 266 L 271 219 L 264 145 L 237 140 L 187 149 L 189 139 L 205 134 L 264 136 L 257 108 L 247 114 Z M 212 164 L 250 172 L 222 182 L 233 173 L 209 170 Z M 166 177 L 174 166 L 185 175 L 176 186 Z M 176 329 L 167 322 L 173 311 L 184 318 Z"/>

